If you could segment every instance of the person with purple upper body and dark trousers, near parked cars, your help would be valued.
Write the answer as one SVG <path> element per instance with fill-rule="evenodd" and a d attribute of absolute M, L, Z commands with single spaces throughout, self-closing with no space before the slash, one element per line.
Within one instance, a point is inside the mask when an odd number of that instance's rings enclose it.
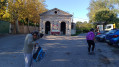
<path fill-rule="evenodd" d="M 94 34 L 94 29 L 91 28 L 90 32 L 86 35 L 87 43 L 88 43 L 88 53 L 90 54 L 90 49 L 92 46 L 92 53 L 94 53 L 94 48 L 95 48 L 95 34 Z"/>

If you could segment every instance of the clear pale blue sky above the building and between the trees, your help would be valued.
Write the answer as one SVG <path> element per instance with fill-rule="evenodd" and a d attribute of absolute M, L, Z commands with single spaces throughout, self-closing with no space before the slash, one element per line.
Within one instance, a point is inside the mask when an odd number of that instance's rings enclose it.
<path fill-rule="evenodd" d="M 61 9 L 73 15 L 74 22 L 89 21 L 87 16 L 90 0 L 46 0 L 47 9 Z"/>

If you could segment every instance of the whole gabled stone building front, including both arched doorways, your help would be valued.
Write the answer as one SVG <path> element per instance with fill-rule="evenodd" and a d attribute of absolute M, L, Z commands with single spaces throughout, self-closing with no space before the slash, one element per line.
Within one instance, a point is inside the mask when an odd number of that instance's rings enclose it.
<path fill-rule="evenodd" d="M 71 35 L 72 15 L 54 8 L 40 14 L 40 32 L 48 35 Z"/>

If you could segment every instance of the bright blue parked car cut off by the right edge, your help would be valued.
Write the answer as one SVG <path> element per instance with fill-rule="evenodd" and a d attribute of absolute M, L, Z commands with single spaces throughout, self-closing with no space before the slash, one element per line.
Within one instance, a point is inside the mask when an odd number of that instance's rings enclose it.
<path fill-rule="evenodd" d="M 109 31 L 105 37 L 107 44 L 119 46 L 119 29 Z"/>

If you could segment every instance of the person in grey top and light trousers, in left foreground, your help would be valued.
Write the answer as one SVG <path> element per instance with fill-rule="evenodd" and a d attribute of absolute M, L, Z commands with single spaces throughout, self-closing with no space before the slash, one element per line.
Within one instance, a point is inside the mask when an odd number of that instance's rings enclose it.
<path fill-rule="evenodd" d="M 25 67 L 32 67 L 32 57 L 33 57 L 33 47 L 36 46 L 38 43 L 37 40 L 38 32 L 33 32 L 26 35 L 24 41 L 24 59 L 25 59 Z"/>

